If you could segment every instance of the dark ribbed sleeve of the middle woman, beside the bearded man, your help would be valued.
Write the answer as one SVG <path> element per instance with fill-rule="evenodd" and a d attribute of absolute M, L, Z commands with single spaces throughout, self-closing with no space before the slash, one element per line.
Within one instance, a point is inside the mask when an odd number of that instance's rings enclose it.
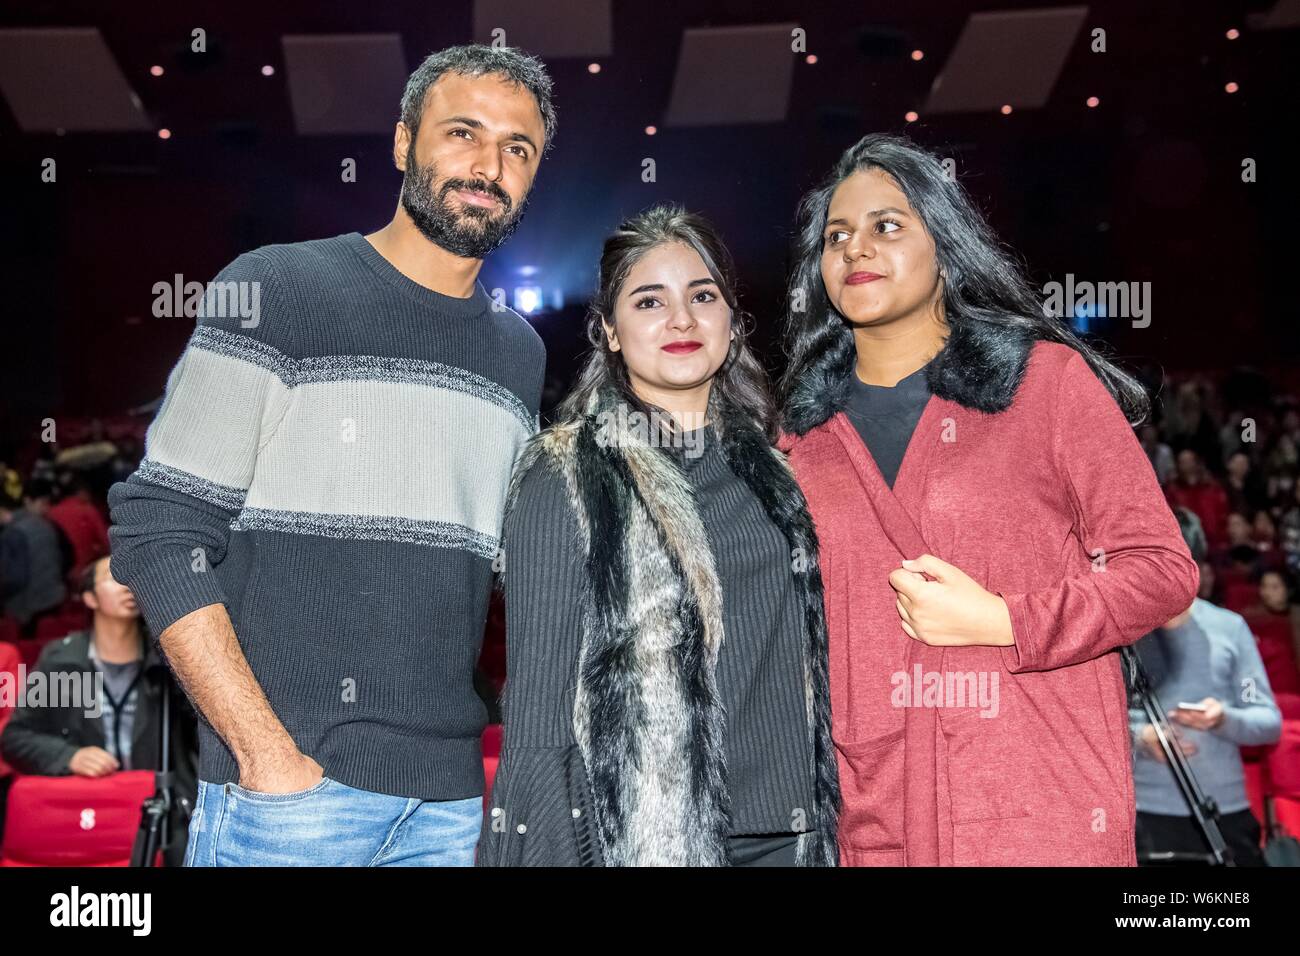
<path fill-rule="evenodd" d="M 582 546 L 564 481 L 545 459 L 521 481 L 503 548 L 504 736 L 477 865 L 599 865 L 573 737 Z"/>

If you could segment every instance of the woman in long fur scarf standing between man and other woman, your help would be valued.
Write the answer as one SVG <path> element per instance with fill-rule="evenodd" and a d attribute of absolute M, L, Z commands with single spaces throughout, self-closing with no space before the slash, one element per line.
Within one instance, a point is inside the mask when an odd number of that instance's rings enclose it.
<path fill-rule="evenodd" d="M 511 483 L 478 865 L 835 866 L 816 540 L 712 226 L 624 222 L 588 337 Z"/>

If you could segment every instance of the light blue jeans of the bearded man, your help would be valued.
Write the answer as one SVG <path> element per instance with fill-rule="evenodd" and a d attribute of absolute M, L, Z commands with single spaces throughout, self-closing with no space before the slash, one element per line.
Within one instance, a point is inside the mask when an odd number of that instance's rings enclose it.
<path fill-rule="evenodd" d="M 295 793 L 199 780 L 186 866 L 473 866 L 482 797 L 417 800 L 325 777 Z"/>

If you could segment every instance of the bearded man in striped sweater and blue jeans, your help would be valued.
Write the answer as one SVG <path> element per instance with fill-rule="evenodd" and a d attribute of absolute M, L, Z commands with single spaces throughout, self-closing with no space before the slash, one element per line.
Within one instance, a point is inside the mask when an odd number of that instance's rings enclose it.
<path fill-rule="evenodd" d="M 109 494 L 113 576 L 204 718 L 187 865 L 473 862 L 473 666 L 546 363 L 477 277 L 550 90 L 515 49 L 425 60 L 393 220 L 226 267 Z"/>

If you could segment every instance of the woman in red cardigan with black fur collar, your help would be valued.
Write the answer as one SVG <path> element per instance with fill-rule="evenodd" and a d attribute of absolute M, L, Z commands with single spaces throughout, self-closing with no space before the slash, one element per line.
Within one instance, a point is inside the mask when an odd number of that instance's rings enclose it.
<path fill-rule="evenodd" d="M 1135 865 L 1117 648 L 1197 567 L 1143 389 L 939 159 L 872 135 L 800 207 L 781 446 L 822 541 L 845 865 Z"/>

